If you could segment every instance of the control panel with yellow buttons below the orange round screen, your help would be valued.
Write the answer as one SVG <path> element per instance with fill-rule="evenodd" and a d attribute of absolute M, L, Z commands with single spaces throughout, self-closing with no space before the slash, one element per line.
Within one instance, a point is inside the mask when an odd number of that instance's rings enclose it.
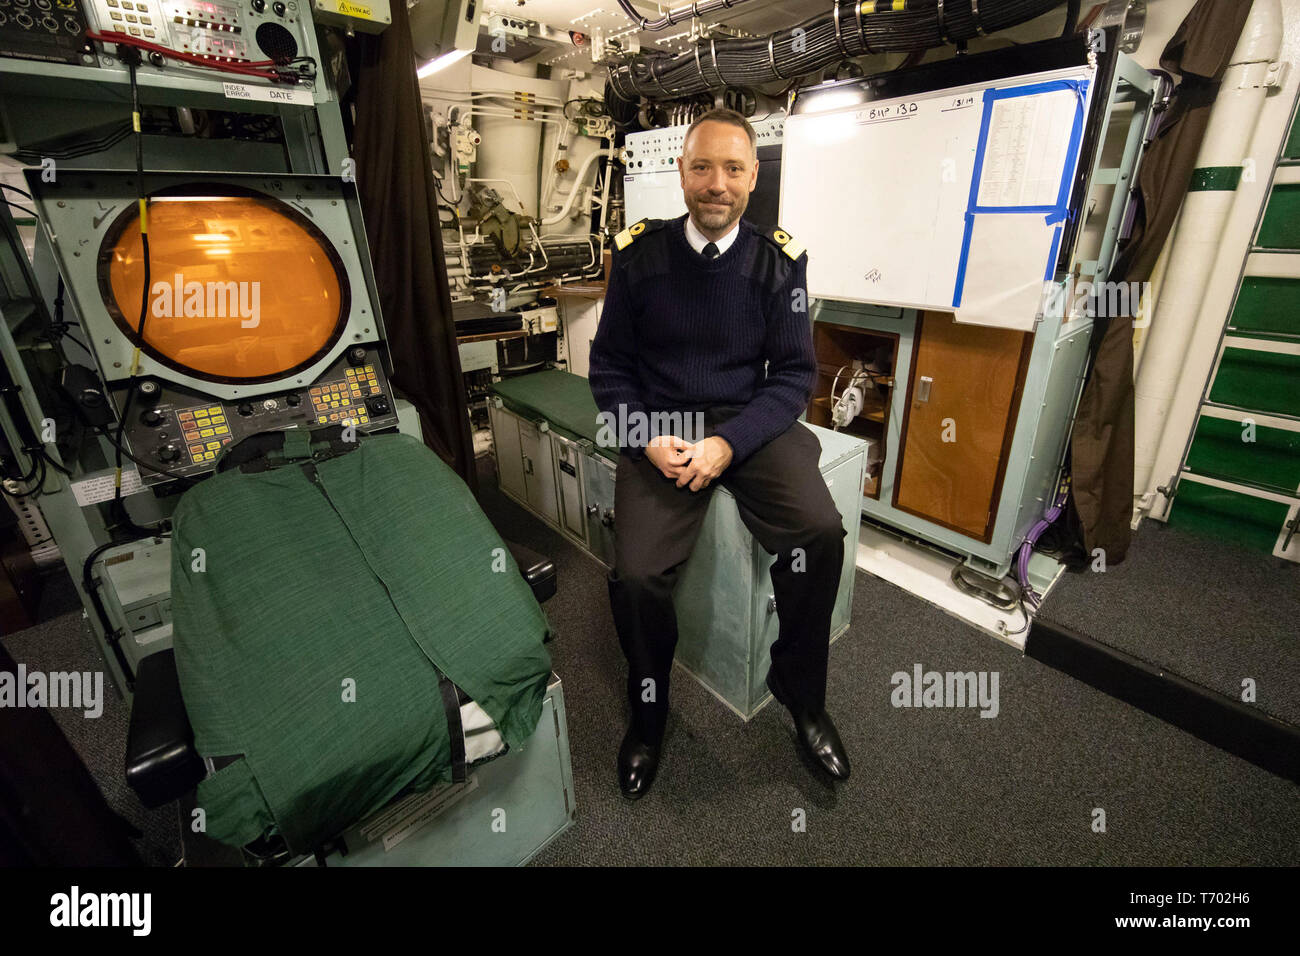
<path fill-rule="evenodd" d="M 285 428 L 352 425 L 374 432 L 398 424 L 384 360 L 373 346 L 348 349 L 309 388 L 270 392 L 242 401 L 213 401 L 192 389 L 142 378 L 126 423 L 126 442 L 139 458 L 146 485 L 169 481 L 150 471 L 192 477 L 212 471 L 228 445 Z M 121 408 L 125 389 L 114 390 Z"/>

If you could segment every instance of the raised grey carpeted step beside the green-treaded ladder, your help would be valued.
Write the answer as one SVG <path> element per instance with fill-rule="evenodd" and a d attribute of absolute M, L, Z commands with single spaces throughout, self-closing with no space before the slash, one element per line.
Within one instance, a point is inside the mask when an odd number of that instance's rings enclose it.
<path fill-rule="evenodd" d="M 1300 564 L 1143 522 L 1127 558 L 1065 574 L 1043 605 L 1056 620 L 1300 726 Z"/>

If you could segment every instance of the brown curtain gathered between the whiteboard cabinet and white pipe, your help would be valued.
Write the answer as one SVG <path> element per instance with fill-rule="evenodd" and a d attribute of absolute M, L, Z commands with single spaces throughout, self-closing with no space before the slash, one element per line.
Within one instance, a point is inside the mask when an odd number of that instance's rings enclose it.
<path fill-rule="evenodd" d="M 1210 108 L 1227 69 L 1249 0 L 1197 0 L 1160 57 L 1182 82 L 1169 114 L 1147 148 L 1138 176 L 1140 200 L 1134 232 L 1110 278 L 1145 282 L 1183 204 L 1196 168 Z M 1134 350 L 1132 316 L 1096 320 L 1093 359 L 1079 399 L 1070 445 L 1070 523 L 1083 554 L 1105 551 L 1106 563 L 1124 559 L 1132 538 Z"/>

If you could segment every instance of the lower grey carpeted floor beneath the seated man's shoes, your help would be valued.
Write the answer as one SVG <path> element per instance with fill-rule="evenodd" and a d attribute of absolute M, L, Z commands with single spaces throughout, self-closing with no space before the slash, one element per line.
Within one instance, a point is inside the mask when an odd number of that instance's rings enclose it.
<path fill-rule="evenodd" d="M 507 537 L 551 555 L 559 574 L 546 614 L 577 822 L 537 864 L 1300 864 L 1300 787 L 862 572 L 828 685 L 850 780 L 831 786 L 810 771 L 780 708 L 742 723 L 677 671 L 659 780 L 625 801 L 615 780 L 623 659 L 604 571 L 497 492 L 486 467 L 485 511 Z M 75 607 L 70 584 L 65 605 Z M 79 609 L 5 641 L 30 667 L 94 666 Z M 996 671 L 997 717 L 892 706 L 890 676 L 915 663 Z M 99 721 L 56 715 L 109 803 L 144 831 L 142 852 L 173 862 L 173 812 L 144 812 L 122 782 L 121 702 Z M 1097 809 L 1105 832 L 1093 830 Z"/>

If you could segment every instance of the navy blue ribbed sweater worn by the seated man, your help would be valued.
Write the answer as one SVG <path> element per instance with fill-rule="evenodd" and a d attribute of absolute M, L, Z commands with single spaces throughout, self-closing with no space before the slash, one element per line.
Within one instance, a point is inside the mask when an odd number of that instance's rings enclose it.
<path fill-rule="evenodd" d="M 686 242 L 685 224 L 649 220 L 614 254 L 588 378 L 597 407 L 616 421 L 744 406 L 716 429 L 738 464 L 807 408 L 816 371 L 807 258 L 792 260 L 741 220 L 731 247 L 707 260 Z"/>

